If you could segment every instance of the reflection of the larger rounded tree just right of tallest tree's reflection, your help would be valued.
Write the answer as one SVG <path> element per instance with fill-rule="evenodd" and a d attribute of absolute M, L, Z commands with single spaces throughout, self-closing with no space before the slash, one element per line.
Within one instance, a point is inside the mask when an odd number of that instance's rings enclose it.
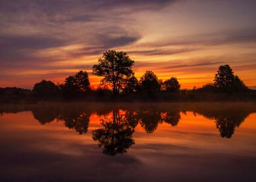
<path fill-rule="evenodd" d="M 143 110 L 138 112 L 140 125 L 144 127 L 147 133 L 153 133 L 161 122 L 161 112 L 155 110 Z"/>

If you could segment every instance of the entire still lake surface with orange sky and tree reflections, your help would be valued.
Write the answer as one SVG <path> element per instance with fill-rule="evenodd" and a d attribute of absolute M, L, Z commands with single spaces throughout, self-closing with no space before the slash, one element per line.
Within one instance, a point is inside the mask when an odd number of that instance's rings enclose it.
<path fill-rule="evenodd" d="M 0 181 L 256 181 L 253 103 L 42 103 L 0 114 Z"/>

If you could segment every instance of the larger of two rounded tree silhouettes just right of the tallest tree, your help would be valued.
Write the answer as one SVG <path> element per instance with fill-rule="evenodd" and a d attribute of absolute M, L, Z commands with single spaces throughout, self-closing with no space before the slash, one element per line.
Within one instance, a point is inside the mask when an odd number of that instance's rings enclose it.
<path fill-rule="evenodd" d="M 140 78 L 140 91 L 147 93 L 159 92 L 161 83 L 159 82 L 157 75 L 152 71 L 146 71 Z"/>

